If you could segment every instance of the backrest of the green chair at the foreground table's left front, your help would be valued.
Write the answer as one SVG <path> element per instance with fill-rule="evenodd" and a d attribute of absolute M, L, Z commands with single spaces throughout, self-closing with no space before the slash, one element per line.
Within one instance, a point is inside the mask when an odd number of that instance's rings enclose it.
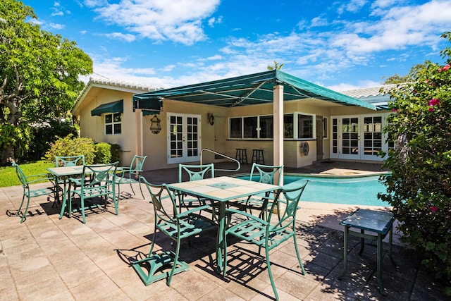
<path fill-rule="evenodd" d="M 151 203 L 154 206 L 155 223 L 170 223 L 178 225 L 178 207 L 175 201 L 173 192 L 169 190 L 166 184 L 155 185 L 147 182 L 144 177 L 141 177 L 141 182 L 146 185 L 151 197 Z M 163 226 L 163 225 L 161 225 Z M 164 228 L 164 226 L 163 226 Z M 177 231 L 177 229 L 173 229 Z M 166 233 L 172 235 L 171 233 Z"/>

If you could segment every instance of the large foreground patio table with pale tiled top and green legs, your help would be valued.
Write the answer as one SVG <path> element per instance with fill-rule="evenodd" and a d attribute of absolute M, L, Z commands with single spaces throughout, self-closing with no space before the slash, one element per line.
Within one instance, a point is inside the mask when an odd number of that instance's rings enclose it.
<path fill-rule="evenodd" d="M 282 186 L 223 176 L 168 184 L 168 188 L 176 192 L 181 192 L 178 193 L 179 196 L 186 193 L 218 202 L 219 229 L 216 243 L 216 263 L 218 264 L 218 271 L 221 272 L 223 270 L 223 235 L 226 224 L 226 202 L 233 202 L 234 199 L 271 192 L 282 188 Z"/>

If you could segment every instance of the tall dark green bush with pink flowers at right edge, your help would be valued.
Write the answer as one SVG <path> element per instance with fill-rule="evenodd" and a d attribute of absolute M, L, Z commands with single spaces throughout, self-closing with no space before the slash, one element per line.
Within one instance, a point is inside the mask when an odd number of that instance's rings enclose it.
<path fill-rule="evenodd" d="M 451 42 L 451 32 L 442 37 Z M 385 128 L 395 141 L 384 166 L 391 176 L 379 197 L 393 206 L 404 241 L 423 254 L 422 264 L 442 279 L 451 295 L 451 47 L 446 63 L 412 68 L 412 82 L 390 92 Z"/>

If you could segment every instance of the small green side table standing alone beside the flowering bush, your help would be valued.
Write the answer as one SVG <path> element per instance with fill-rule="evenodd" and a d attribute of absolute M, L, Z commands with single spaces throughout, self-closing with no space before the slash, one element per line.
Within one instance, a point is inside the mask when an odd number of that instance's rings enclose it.
<path fill-rule="evenodd" d="M 388 256 L 390 257 L 391 262 L 396 266 L 395 262 L 393 262 L 392 257 L 394 221 L 395 216 L 389 212 L 368 209 L 357 209 L 340 222 L 340 225 L 345 226 L 345 235 L 344 235 L 345 243 L 343 247 L 344 270 L 342 271 L 342 274 L 338 276 L 338 279 L 341 280 L 343 276 L 345 276 L 347 271 L 347 235 L 350 234 L 361 238 L 359 255 L 362 254 L 362 252 L 364 251 L 365 238 L 377 238 L 377 278 L 379 291 L 381 292 L 382 295 L 387 295 L 387 292 L 385 292 L 385 288 L 383 287 L 382 283 L 382 240 L 389 233 Z M 360 233 L 350 231 L 350 228 L 360 229 Z M 376 235 L 365 233 L 365 231 L 376 233 Z"/>

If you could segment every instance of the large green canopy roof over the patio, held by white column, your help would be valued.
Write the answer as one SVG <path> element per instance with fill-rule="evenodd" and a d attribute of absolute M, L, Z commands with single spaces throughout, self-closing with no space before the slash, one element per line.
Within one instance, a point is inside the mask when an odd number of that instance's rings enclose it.
<path fill-rule="evenodd" d="M 376 106 L 372 104 L 296 78 L 280 70 L 135 94 L 133 95 L 133 108 L 144 111 L 148 109 L 147 107 L 156 108 L 156 106 L 162 105 L 162 99 L 226 107 L 267 104 L 273 102 L 274 85 L 284 86 L 284 101 L 313 98 L 376 110 Z M 159 111 L 153 110 L 154 113 Z"/>

